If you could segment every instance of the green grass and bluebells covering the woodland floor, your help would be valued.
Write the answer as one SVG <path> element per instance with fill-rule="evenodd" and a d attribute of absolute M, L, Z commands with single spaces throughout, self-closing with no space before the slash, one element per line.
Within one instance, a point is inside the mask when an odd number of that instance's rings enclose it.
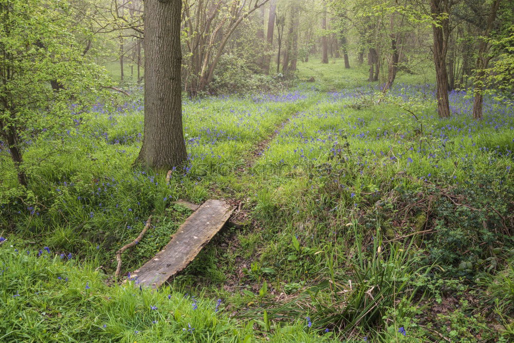
<path fill-rule="evenodd" d="M 299 69 L 289 93 L 186 100 L 190 159 L 169 185 L 132 167 L 137 92 L 35 137 L 28 189 L 0 152 L 0 340 L 508 340 L 510 107 L 488 99 L 475 122 L 469 98 L 452 94 L 456 114 L 440 120 L 421 69 L 380 104 L 367 66 Z M 243 201 L 243 228 L 219 232 L 159 292 L 109 277 L 149 215 L 122 274 L 166 245 L 190 214 L 178 198 Z"/>

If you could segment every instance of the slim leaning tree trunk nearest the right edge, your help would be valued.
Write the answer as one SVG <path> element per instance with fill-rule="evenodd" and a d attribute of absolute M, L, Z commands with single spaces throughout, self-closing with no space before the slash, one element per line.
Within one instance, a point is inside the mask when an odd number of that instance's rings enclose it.
<path fill-rule="evenodd" d="M 483 115 L 483 98 L 484 98 L 484 78 L 485 71 L 489 64 L 490 57 L 486 56 L 487 50 L 489 50 L 489 43 L 487 42 L 487 37 L 491 33 L 494 21 L 496 20 L 496 13 L 498 12 L 498 8 L 500 7 L 500 0 L 494 0 L 491 4 L 491 10 L 489 12 L 489 16 L 487 17 L 487 27 L 485 30 L 484 36 L 485 39 L 482 39 L 479 45 L 479 56 L 476 59 L 476 81 L 475 81 L 475 89 L 474 99 L 473 99 L 473 118 L 482 119 Z"/>

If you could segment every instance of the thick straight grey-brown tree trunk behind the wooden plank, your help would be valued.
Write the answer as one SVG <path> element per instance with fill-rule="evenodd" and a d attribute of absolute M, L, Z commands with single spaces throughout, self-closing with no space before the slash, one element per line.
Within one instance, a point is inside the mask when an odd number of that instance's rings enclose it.
<path fill-rule="evenodd" d="M 180 85 L 181 0 L 144 2 L 144 136 L 136 163 L 169 170 L 186 160 Z"/>

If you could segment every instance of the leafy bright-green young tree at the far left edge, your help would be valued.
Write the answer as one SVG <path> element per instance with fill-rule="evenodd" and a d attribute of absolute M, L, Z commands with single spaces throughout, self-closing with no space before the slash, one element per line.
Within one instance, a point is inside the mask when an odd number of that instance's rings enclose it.
<path fill-rule="evenodd" d="M 21 185 L 27 145 L 65 134 L 76 119 L 71 107 L 78 112 L 100 86 L 102 71 L 84 57 L 71 17 L 66 1 L 0 0 L 0 139 Z"/>

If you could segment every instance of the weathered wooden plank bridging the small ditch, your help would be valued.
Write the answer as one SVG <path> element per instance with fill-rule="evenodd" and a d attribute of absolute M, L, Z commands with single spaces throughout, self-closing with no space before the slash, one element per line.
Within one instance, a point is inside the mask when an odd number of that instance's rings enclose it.
<path fill-rule="evenodd" d="M 158 288 L 185 268 L 225 225 L 234 209 L 222 200 L 208 200 L 184 222 L 154 258 L 132 273 L 137 285 Z"/>

